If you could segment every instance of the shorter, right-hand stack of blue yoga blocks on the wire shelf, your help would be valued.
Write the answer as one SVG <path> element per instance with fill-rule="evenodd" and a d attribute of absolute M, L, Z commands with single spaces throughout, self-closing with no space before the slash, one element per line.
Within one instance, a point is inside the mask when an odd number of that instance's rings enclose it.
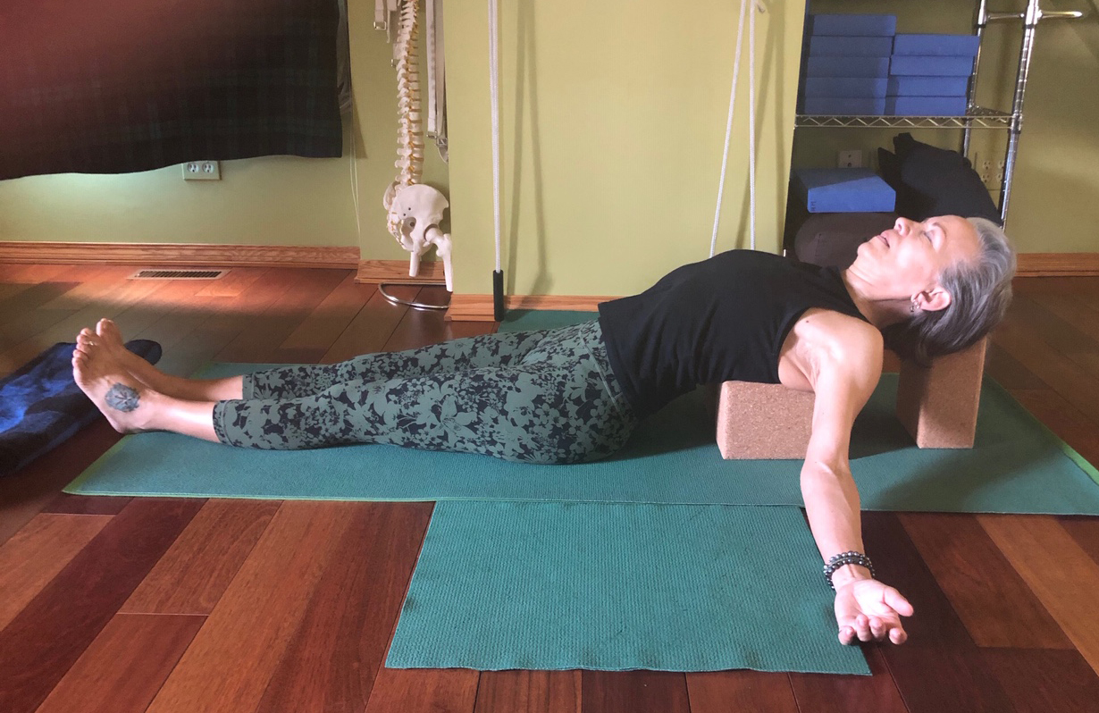
<path fill-rule="evenodd" d="M 978 44 L 975 35 L 897 35 L 889 60 L 886 113 L 964 115 Z"/>

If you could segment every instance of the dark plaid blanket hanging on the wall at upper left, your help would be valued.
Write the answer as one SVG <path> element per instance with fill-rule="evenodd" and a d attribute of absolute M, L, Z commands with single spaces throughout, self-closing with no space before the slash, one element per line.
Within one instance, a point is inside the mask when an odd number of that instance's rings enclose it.
<path fill-rule="evenodd" d="M 342 153 L 336 0 L 2 0 L 0 179 Z"/>

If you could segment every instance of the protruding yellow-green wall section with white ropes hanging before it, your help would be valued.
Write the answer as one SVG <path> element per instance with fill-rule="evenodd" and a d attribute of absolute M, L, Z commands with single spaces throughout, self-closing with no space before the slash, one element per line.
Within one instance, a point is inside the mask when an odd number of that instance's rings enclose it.
<path fill-rule="evenodd" d="M 485 2 L 447 5 L 456 290 L 493 269 Z M 500 3 L 502 242 L 511 294 L 626 294 L 709 254 L 739 3 Z M 757 247 L 778 248 L 804 4 L 757 20 Z M 745 45 L 747 37 L 745 36 Z M 746 56 L 745 52 L 745 56 Z M 719 249 L 747 246 L 747 63 Z"/>

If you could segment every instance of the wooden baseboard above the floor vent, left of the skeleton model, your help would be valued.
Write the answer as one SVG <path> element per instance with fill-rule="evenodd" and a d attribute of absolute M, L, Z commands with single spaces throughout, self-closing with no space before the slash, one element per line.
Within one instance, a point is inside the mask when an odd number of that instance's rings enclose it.
<path fill-rule="evenodd" d="M 173 267 L 358 267 L 357 247 L 0 242 L 0 263 Z"/>

